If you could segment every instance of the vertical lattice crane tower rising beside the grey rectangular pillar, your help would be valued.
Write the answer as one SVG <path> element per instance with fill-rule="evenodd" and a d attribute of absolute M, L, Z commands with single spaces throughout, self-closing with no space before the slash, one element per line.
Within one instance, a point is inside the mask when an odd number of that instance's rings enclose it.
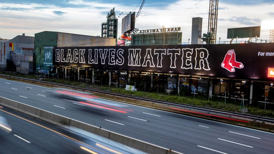
<path fill-rule="evenodd" d="M 202 37 L 206 44 L 216 44 L 218 2 L 219 0 L 210 0 L 207 34 Z"/>

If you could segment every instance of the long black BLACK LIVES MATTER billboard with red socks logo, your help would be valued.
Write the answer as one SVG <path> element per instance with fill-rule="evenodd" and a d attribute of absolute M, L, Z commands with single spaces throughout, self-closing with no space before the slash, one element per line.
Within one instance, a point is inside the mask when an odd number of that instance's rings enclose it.
<path fill-rule="evenodd" d="M 274 43 L 54 47 L 53 65 L 267 79 Z"/>

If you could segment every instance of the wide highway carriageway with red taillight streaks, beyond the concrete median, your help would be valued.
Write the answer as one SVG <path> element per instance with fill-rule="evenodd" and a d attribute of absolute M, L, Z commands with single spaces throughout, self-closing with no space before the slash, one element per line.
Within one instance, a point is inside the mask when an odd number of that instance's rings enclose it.
<path fill-rule="evenodd" d="M 0 79 L 0 96 L 181 153 L 274 153 L 274 134 Z"/>

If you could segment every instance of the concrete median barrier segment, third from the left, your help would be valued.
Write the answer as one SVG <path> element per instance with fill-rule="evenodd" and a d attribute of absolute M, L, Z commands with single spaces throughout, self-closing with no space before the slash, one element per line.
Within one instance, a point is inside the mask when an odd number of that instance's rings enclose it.
<path fill-rule="evenodd" d="M 69 118 L 54 114 L 52 112 L 41 110 L 40 119 L 61 127 L 69 128 Z"/>

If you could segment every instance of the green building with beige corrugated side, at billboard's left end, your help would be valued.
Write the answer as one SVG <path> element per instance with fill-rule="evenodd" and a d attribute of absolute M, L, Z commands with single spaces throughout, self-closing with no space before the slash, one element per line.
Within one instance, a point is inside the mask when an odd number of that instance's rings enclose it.
<path fill-rule="evenodd" d="M 115 38 L 95 37 L 63 32 L 44 31 L 34 34 L 35 72 L 54 73 L 52 64 L 53 47 L 115 46 Z"/>

